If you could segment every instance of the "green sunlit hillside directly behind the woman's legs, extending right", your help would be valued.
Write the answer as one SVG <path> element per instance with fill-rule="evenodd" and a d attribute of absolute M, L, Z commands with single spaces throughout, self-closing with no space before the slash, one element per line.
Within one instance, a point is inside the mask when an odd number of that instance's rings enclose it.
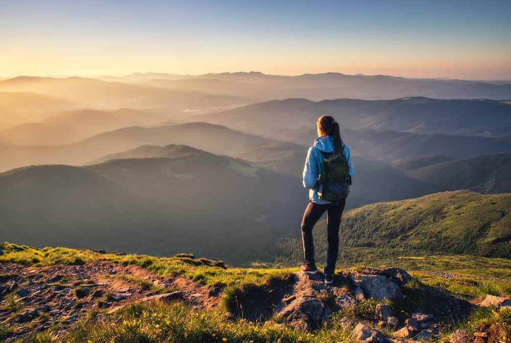
<path fill-rule="evenodd" d="M 366 205 L 343 214 L 340 256 L 367 261 L 378 254 L 437 253 L 511 257 L 511 194 L 486 195 L 453 191 L 422 198 Z M 326 222 L 315 230 L 318 259 L 326 258 Z M 286 238 L 277 260 L 301 256 L 301 240 Z"/>

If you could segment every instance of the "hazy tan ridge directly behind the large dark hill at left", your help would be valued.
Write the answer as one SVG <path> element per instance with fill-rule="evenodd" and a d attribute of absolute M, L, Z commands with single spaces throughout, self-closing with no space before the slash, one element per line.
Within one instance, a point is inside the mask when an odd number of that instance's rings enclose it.
<path fill-rule="evenodd" d="M 141 145 L 186 144 L 208 152 L 235 155 L 245 145 L 269 141 L 271 139 L 203 122 L 151 128 L 129 127 L 97 134 L 72 144 L 4 145 L 0 150 L 0 171 L 33 164 L 81 165 Z"/>

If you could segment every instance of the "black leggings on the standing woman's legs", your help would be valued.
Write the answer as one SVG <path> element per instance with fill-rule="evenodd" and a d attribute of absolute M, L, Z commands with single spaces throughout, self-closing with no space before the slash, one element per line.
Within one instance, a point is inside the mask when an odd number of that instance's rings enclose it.
<path fill-rule="evenodd" d="M 334 274 L 335 262 L 339 252 L 339 226 L 341 224 L 342 211 L 346 205 L 346 199 L 338 203 L 315 204 L 309 201 L 305 209 L 304 219 L 301 221 L 301 240 L 304 244 L 304 258 L 308 262 L 316 263 L 314 260 L 314 240 L 312 228 L 325 211 L 327 211 L 327 265 L 324 267 L 324 274 Z"/>

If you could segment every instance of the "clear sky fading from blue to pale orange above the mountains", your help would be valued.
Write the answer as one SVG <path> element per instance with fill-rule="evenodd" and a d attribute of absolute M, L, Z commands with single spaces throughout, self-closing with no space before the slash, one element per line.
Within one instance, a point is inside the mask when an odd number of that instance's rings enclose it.
<path fill-rule="evenodd" d="M 0 77 L 319 72 L 511 80 L 511 1 L 0 0 Z"/>

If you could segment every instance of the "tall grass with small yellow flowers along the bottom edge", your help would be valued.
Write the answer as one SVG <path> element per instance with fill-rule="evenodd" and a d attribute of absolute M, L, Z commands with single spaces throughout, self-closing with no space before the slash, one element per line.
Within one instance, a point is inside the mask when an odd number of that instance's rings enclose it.
<path fill-rule="evenodd" d="M 181 303 L 158 303 L 130 305 L 121 312 L 117 322 L 80 322 L 65 341 L 286 343 L 344 340 L 348 334 L 336 327 L 304 332 L 276 323 L 258 325 L 243 319 L 230 322 L 219 312 L 198 311 Z"/>

